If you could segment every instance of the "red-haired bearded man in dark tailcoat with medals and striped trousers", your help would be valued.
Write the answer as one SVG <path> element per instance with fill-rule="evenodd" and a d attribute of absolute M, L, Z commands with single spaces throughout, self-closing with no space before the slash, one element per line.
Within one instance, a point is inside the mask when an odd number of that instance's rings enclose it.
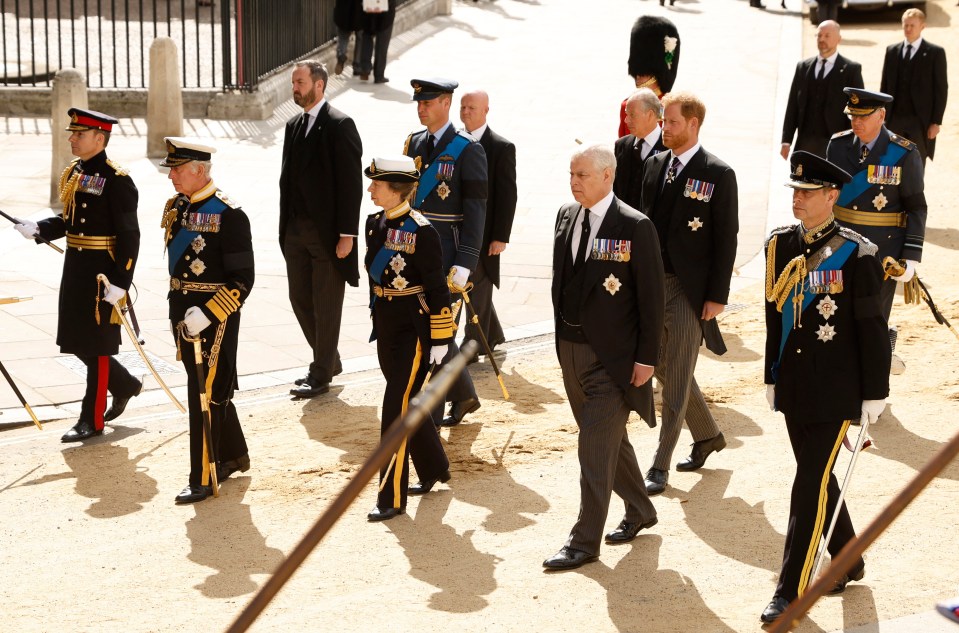
<path fill-rule="evenodd" d="M 663 385 L 662 427 L 646 489 L 666 489 L 669 462 L 683 420 L 693 436 L 678 470 L 697 470 L 726 439 L 713 419 L 693 372 L 705 338 L 710 351 L 726 351 L 716 317 L 729 298 L 736 259 L 739 198 L 736 174 L 699 144 L 706 106 L 693 94 L 663 98 L 663 143 L 670 151 L 646 161 L 640 211 L 656 225 L 666 272 L 666 333 L 656 379 Z"/>

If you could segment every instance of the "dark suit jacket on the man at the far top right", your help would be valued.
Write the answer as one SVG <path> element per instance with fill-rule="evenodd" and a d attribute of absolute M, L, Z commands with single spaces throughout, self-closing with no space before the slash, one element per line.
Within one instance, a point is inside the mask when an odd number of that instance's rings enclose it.
<path fill-rule="evenodd" d="M 912 68 L 912 90 L 906 94 L 899 94 L 897 84 L 899 72 L 902 69 L 902 51 L 904 43 L 892 44 L 886 48 L 886 58 L 882 64 L 882 81 L 880 90 L 893 96 L 893 102 L 886 106 L 886 119 L 896 114 L 896 104 L 906 99 L 912 101 L 919 122 L 925 132 L 933 123 L 942 125 L 942 117 L 946 112 L 946 96 L 949 92 L 949 81 L 946 78 L 946 51 L 925 39 L 919 49 L 913 54 L 909 62 Z M 935 140 L 909 139 L 917 143 L 925 143 L 929 157 L 935 153 Z"/>

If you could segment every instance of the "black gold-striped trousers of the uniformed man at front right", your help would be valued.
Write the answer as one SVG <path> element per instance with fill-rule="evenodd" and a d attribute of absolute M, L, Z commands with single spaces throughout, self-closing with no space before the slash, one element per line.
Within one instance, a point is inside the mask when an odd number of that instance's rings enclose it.
<path fill-rule="evenodd" d="M 779 585 L 776 587 L 776 595 L 786 600 L 795 600 L 815 580 L 810 576 L 816 562 L 816 552 L 829 529 L 839 498 L 839 484 L 833 474 L 833 466 L 848 428 L 848 420 L 810 424 L 786 416 L 786 430 L 796 457 L 786 547 Z M 856 531 L 843 503 L 836 529 L 829 540 L 829 554 L 839 554 L 855 536 Z M 862 564 L 860 559 L 854 569 Z"/>

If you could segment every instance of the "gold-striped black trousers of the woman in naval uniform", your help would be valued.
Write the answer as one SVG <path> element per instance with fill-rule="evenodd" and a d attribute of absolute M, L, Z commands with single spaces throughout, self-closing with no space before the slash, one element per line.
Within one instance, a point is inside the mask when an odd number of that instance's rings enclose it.
<path fill-rule="evenodd" d="M 423 386 L 429 371 L 429 315 L 420 314 L 415 296 L 377 299 L 373 304 L 373 328 L 380 370 L 386 378 L 380 436 L 406 413 L 410 398 Z M 443 443 L 431 419 L 423 422 L 396 452 L 396 459 L 380 471 L 376 507 L 406 508 L 409 461 L 421 480 L 435 479 L 450 467 Z"/>

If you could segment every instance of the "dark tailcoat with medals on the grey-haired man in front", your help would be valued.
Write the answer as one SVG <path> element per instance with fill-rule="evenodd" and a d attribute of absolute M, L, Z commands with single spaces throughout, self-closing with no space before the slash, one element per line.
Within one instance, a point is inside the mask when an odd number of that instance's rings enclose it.
<path fill-rule="evenodd" d="M 582 208 L 576 203 L 567 204 L 556 217 L 552 295 L 557 328 L 564 257 L 570 248 L 573 226 Z M 586 261 L 580 306 L 583 330 L 603 367 L 622 387 L 630 409 L 639 413 L 646 424 L 655 426 L 650 382 L 642 387 L 633 387 L 630 380 L 634 363 L 652 366 L 659 359 L 665 322 L 665 293 L 656 227 L 649 218 L 614 197 L 596 233 L 596 239 L 629 240 L 631 253 L 628 262 Z M 613 281 L 621 285 L 615 292 L 610 292 L 606 284 Z"/>

